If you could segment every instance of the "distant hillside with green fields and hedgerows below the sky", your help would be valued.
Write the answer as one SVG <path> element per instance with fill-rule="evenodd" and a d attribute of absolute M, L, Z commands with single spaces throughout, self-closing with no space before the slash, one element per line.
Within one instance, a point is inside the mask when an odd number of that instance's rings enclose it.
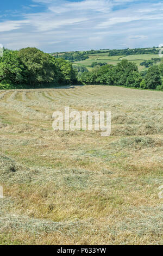
<path fill-rule="evenodd" d="M 158 64 L 159 48 L 134 48 L 121 50 L 90 50 L 90 51 L 75 51 L 75 52 L 54 52 L 51 53 L 55 58 L 64 58 L 74 63 L 75 65 L 82 65 L 88 70 L 92 70 L 96 65 L 102 63 L 117 65 L 122 59 L 128 59 L 129 62 L 134 62 L 139 71 L 145 71 L 149 66 Z M 95 65 L 96 62 L 96 65 Z"/>

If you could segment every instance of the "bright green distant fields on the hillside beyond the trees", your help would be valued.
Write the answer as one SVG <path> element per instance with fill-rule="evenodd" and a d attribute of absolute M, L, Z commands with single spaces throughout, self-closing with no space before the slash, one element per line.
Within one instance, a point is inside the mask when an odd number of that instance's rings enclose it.
<path fill-rule="evenodd" d="M 118 62 L 120 62 L 122 59 L 127 59 L 131 62 L 136 63 L 138 66 L 139 71 L 145 71 L 148 68 L 145 68 L 145 66 L 140 66 L 140 63 L 143 62 L 143 60 L 149 60 L 152 58 L 159 58 L 156 54 L 135 54 L 135 55 L 129 55 L 129 56 L 108 56 L 108 52 L 106 53 L 97 53 L 97 54 L 90 54 L 89 59 L 82 60 L 80 62 L 75 62 L 74 64 L 78 65 L 84 65 L 86 68 L 91 71 L 93 68 L 91 68 L 92 62 L 106 62 L 110 65 L 117 65 Z"/>

